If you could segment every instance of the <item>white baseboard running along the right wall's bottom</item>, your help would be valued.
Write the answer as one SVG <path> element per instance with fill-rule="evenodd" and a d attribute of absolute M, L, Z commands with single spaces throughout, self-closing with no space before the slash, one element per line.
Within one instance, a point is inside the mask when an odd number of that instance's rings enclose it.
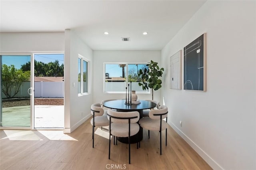
<path fill-rule="evenodd" d="M 215 162 L 204 150 L 202 150 L 195 142 L 193 142 L 186 134 L 184 134 L 172 122 L 168 123 L 214 170 L 223 170 L 223 168 Z"/>

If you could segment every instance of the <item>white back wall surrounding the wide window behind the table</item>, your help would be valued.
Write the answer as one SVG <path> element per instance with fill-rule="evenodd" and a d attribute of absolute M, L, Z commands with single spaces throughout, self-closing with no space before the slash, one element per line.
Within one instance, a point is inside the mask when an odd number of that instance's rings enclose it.
<path fill-rule="evenodd" d="M 150 62 L 153 60 L 161 66 L 161 51 L 93 51 L 94 65 L 93 65 L 93 101 L 100 103 L 105 99 L 125 99 L 124 94 L 103 93 L 103 80 L 104 80 L 104 62 Z M 164 72 L 165 74 L 165 72 Z M 152 99 L 152 94 L 137 94 L 138 99 Z M 161 99 L 161 89 L 154 91 L 154 100 Z"/>

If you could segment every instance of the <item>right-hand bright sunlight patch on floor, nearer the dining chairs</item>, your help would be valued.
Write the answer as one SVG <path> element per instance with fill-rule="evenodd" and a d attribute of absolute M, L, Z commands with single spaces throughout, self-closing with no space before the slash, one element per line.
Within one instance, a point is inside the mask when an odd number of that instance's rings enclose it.
<path fill-rule="evenodd" d="M 38 130 L 38 132 L 49 140 L 76 140 L 75 138 L 68 136 L 68 134 L 64 134 L 62 130 Z"/>

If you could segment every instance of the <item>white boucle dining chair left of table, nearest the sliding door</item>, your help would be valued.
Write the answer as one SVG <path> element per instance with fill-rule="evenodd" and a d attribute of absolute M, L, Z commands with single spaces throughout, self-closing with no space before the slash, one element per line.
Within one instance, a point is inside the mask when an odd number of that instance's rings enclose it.
<path fill-rule="evenodd" d="M 91 125 L 92 125 L 92 148 L 94 148 L 94 127 L 104 127 L 109 125 L 108 117 L 104 114 L 104 109 L 100 103 L 91 105 Z"/>

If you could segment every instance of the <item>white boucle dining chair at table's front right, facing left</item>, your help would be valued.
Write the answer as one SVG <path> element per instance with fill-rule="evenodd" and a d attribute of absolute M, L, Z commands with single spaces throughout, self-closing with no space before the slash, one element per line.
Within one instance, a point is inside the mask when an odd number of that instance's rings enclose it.
<path fill-rule="evenodd" d="M 162 130 L 166 129 L 165 145 L 167 146 L 167 115 L 168 108 L 161 106 L 160 109 L 153 109 L 149 112 L 149 117 L 140 119 L 139 124 L 142 128 L 148 129 L 148 138 L 150 138 L 150 130 L 160 132 L 160 155 L 162 155 Z M 162 120 L 165 119 L 166 121 Z"/>

